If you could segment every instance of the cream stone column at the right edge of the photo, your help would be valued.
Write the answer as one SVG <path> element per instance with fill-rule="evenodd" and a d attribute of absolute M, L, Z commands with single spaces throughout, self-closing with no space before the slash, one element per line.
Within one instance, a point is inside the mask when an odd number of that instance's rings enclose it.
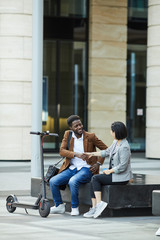
<path fill-rule="evenodd" d="M 148 2 L 146 157 L 160 158 L 160 0 Z"/>

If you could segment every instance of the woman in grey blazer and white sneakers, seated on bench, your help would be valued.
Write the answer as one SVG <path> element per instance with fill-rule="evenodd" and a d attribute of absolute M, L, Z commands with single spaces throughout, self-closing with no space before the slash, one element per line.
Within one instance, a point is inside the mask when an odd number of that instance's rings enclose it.
<path fill-rule="evenodd" d="M 127 137 L 127 128 L 122 122 L 114 122 L 111 125 L 112 145 L 100 152 L 86 153 L 89 158 L 92 156 L 109 156 L 109 169 L 103 174 L 92 177 L 92 208 L 85 213 L 84 217 L 97 218 L 107 207 L 107 203 L 101 200 L 103 185 L 124 185 L 133 177 L 130 164 L 130 147 Z"/>

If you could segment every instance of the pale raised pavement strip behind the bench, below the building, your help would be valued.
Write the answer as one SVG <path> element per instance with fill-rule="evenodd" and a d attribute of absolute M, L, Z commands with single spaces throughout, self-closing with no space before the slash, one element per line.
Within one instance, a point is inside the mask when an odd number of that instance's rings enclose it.
<path fill-rule="evenodd" d="M 46 157 L 45 171 L 50 164 L 56 163 L 60 157 Z M 106 159 L 101 170 L 108 167 Z M 146 159 L 144 153 L 133 153 L 132 170 L 134 173 L 160 175 L 160 160 Z M 10 193 L 16 195 L 30 195 L 31 189 L 31 162 L 2 162 L 0 161 L 0 196 Z"/>

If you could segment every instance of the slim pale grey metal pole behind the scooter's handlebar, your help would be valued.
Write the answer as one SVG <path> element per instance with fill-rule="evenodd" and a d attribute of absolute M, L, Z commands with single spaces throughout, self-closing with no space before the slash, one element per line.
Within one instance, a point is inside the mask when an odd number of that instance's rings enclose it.
<path fill-rule="evenodd" d="M 43 0 L 33 0 L 32 130 L 42 131 Z M 40 138 L 32 135 L 31 175 L 40 177 Z"/>

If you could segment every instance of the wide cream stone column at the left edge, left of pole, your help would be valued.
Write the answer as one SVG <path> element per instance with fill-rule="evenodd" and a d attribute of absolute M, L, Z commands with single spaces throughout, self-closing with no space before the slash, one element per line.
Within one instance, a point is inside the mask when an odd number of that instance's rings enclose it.
<path fill-rule="evenodd" d="M 31 158 L 32 0 L 0 0 L 0 160 Z"/>

